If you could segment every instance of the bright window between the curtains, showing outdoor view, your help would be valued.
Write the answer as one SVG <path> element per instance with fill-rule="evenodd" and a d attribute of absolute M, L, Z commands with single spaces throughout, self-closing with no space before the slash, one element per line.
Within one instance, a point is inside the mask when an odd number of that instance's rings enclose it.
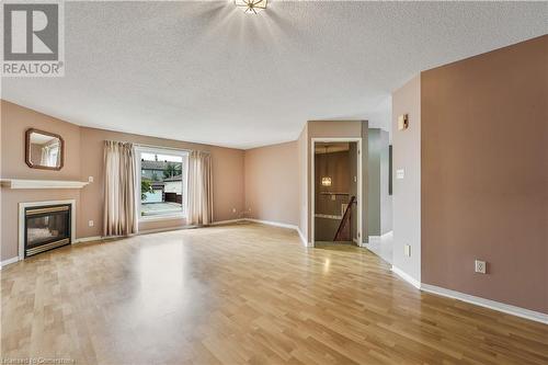
<path fill-rule="evenodd" d="M 140 220 L 186 216 L 187 153 L 185 151 L 136 148 L 139 167 Z"/>

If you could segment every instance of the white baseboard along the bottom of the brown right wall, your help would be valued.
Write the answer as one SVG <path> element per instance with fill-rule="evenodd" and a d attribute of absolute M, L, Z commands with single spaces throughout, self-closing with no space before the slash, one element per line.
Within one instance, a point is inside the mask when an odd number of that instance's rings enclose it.
<path fill-rule="evenodd" d="M 461 301 L 466 301 L 466 303 L 469 303 L 469 304 L 472 304 L 476 306 L 502 311 L 502 312 L 507 313 L 507 315 L 517 316 L 517 317 L 522 317 L 522 318 L 526 318 L 526 319 L 530 319 L 530 320 L 534 320 L 537 322 L 548 324 L 548 313 L 543 313 L 539 311 L 525 309 L 525 308 L 507 305 L 504 303 L 494 301 L 491 299 L 486 299 L 486 298 L 477 297 L 473 295 L 469 295 L 469 294 L 465 294 L 465 293 L 460 293 L 460 292 L 455 292 L 455 290 L 450 290 L 450 289 L 446 289 L 443 287 L 429 285 L 429 284 L 422 284 L 421 290 L 436 294 L 436 295 L 441 295 L 441 296 L 448 297 L 448 298 L 453 298 L 453 299 L 457 299 L 457 300 L 461 300 Z"/>

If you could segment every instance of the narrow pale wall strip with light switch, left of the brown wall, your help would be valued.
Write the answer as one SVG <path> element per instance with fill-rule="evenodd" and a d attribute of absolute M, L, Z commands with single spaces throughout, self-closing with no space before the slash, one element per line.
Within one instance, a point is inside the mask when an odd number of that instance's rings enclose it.
<path fill-rule="evenodd" d="M 409 115 L 409 128 L 398 130 L 398 115 Z M 421 79 L 414 77 L 392 93 L 393 247 L 392 263 L 421 281 Z M 403 170 L 397 179 L 396 170 Z M 404 244 L 411 246 L 406 256 Z"/>

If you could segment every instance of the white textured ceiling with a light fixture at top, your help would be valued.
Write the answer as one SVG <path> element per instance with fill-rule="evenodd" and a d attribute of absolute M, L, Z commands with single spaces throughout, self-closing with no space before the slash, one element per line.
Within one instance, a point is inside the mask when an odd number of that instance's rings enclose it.
<path fill-rule="evenodd" d="M 85 126 L 251 148 L 307 119 L 389 128 L 421 70 L 548 33 L 546 2 L 66 2 L 66 76 L 2 98 Z"/>

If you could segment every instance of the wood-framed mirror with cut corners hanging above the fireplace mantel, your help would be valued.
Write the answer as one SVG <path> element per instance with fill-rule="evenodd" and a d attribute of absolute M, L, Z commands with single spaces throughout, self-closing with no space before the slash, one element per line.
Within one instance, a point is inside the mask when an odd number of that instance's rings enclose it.
<path fill-rule="evenodd" d="M 35 128 L 25 134 L 25 160 L 32 169 L 60 170 L 65 163 L 65 141 L 55 133 Z"/>

